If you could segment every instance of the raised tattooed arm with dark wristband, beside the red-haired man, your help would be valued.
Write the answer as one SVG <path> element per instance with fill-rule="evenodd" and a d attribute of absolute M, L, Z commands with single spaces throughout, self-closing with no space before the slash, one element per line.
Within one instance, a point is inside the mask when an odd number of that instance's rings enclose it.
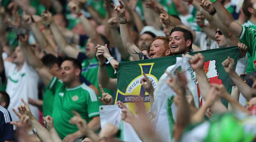
<path fill-rule="evenodd" d="M 134 60 L 143 60 L 144 55 L 141 50 L 135 45 L 129 30 L 129 26 L 127 25 L 127 19 L 125 17 L 125 6 L 120 0 L 119 3 L 120 5 L 118 6 L 115 6 L 112 3 L 112 6 L 115 7 L 114 11 L 116 11 L 119 17 L 120 32 L 124 47 Z"/>

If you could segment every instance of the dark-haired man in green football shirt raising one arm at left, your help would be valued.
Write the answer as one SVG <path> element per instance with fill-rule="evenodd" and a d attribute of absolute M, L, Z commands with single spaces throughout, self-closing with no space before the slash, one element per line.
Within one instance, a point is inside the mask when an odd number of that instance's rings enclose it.
<path fill-rule="evenodd" d="M 73 117 L 72 110 L 78 112 L 92 130 L 100 128 L 99 101 L 95 92 L 84 83 L 80 83 L 81 63 L 67 58 L 61 65 L 61 79 L 58 80 L 43 65 L 28 46 L 27 36 L 20 36 L 20 47 L 27 63 L 37 71 L 40 79 L 54 94 L 53 119 L 60 138 L 64 141 L 75 141 L 82 137 L 76 126 L 69 123 Z"/>

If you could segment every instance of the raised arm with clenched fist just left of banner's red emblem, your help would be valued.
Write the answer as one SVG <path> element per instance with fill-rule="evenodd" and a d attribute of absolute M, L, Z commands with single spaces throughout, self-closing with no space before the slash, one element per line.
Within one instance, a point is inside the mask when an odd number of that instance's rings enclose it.
<path fill-rule="evenodd" d="M 208 92 L 210 90 L 210 83 L 208 82 L 207 76 L 203 71 L 205 58 L 201 53 L 197 53 L 190 60 L 191 68 L 196 72 L 200 93 L 204 100 L 208 98 Z M 226 112 L 227 108 L 222 104 L 220 100 L 214 102 L 211 106 L 213 112 Z"/>

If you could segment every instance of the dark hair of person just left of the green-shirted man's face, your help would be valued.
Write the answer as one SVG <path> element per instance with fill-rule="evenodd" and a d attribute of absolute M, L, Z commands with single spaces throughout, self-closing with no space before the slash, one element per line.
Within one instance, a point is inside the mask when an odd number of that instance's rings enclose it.
<path fill-rule="evenodd" d="M 52 54 L 46 54 L 41 59 L 42 63 L 47 66 L 48 68 L 52 68 L 53 65 L 56 63 L 58 66 L 60 66 L 60 61 L 57 57 L 55 57 Z"/>

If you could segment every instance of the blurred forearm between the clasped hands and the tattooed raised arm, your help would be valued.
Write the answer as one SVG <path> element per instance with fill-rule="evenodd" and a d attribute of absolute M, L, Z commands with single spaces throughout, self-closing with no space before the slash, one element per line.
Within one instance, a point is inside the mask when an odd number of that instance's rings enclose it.
<path fill-rule="evenodd" d="M 121 54 L 121 58 L 126 59 L 127 56 L 129 56 L 129 53 L 125 50 L 123 42 L 122 42 L 122 38 L 120 37 L 116 27 L 111 27 L 110 28 L 110 33 L 111 33 L 111 36 L 113 38 L 113 42 L 115 44 L 115 47 L 118 48 L 118 51 Z"/>

